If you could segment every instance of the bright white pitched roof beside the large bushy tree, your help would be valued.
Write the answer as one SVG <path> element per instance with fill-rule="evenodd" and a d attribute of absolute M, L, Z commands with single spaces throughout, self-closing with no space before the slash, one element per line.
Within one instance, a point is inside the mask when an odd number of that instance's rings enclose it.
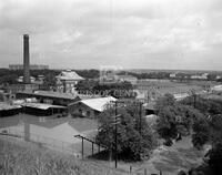
<path fill-rule="evenodd" d="M 95 97 L 95 99 L 81 100 L 80 103 L 83 103 L 95 111 L 102 112 L 105 105 L 112 101 L 117 101 L 117 99 L 112 96 Z"/>

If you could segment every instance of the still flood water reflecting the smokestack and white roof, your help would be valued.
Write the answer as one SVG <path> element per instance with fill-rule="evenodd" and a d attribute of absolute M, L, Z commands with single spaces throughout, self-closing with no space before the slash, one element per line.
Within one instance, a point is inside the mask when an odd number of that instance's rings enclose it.
<path fill-rule="evenodd" d="M 26 114 L 0 117 L 0 133 L 75 153 L 81 152 L 82 141 L 74 136 L 82 135 L 93 140 L 97 128 L 97 121 L 89 119 L 39 117 Z M 89 143 L 84 144 L 88 145 Z"/>

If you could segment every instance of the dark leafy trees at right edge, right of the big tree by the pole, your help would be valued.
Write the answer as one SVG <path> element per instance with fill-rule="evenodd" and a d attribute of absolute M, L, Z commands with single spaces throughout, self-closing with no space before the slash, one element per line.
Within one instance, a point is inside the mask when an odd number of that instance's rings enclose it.
<path fill-rule="evenodd" d="M 183 131 L 192 131 L 194 147 L 201 150 L 204 144 L 210 144 L 212 148 L 203 165 L 190 172 L 219 175 L 222 172 L 222 102 L 200 96 L 194 101 L 194 97 L 180 103 L 169 94 L 159 99 L 157 131 L 165 140 L 175 138 L 178 133 L 184 134 Z"/>

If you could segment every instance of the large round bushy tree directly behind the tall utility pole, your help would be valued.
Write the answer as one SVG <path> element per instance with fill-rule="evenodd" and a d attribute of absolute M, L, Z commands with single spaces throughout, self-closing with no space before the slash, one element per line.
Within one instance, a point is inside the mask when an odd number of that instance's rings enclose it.
<path fill-rule="evenodd" d="M 128 109 L 129 106 L 125 106 Z M 139 114 L 130 114 L 125 109 L 118 109 L 121 114 L 118 123 L 118 154 L 123 159 L 139 161 L 150 156 L 157 146 L 157 138 L 150 126 L 142 117 L 141 128 L 138 127 Z M 114 150 L 114 112 L 108 109 L 99 116 L 100 127 L 97 141 Z"/>

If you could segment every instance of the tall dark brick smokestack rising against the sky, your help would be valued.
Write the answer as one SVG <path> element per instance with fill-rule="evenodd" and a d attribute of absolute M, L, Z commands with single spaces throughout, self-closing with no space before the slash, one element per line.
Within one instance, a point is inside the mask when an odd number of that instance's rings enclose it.
<path fill-rule="evenodd" d="M 29 70 L 29 34 L 23 34 L 23 83 L 30 83 Z"/>

